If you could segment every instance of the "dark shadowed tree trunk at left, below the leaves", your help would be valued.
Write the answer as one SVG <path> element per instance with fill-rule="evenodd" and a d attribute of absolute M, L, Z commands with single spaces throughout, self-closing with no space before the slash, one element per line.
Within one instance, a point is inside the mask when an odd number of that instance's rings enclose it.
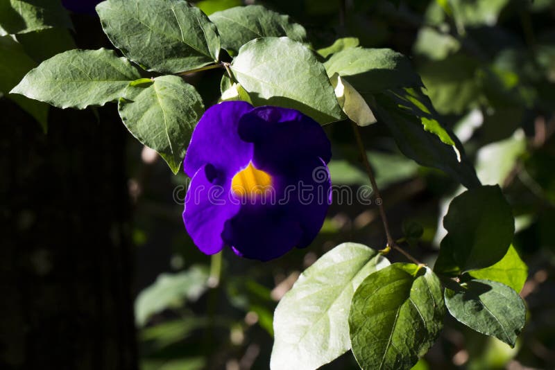
<path fill-rule="evenodd" d="M 136 369 L 126 132 L 113 106 L 0 99 L 0 368 Z"/>

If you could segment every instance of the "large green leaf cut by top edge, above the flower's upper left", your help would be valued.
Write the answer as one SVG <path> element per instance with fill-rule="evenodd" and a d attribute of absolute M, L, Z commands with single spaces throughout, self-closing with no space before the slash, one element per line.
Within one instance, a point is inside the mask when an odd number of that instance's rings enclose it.
<path fill-rule="evenodd" d="M 216 26 L 184 0 L 108 0 L 96 11 L 112 44 L 149 71 L 178 73 L 218 61 Z"/>

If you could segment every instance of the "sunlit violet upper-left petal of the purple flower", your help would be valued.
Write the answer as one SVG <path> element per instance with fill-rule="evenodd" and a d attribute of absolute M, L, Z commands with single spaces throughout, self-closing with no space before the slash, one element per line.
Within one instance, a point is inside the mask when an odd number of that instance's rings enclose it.
<path fill-rule="evenodd" d="M 239 118 L 253 106 L 242 101 L 223 102 L 207 109 L 191 136 L 183 168 L 194 175 L 205 164 L 212 164 L 232 177 L 253 155 L 253 144 L 243 141 L 237 132 Z"/>

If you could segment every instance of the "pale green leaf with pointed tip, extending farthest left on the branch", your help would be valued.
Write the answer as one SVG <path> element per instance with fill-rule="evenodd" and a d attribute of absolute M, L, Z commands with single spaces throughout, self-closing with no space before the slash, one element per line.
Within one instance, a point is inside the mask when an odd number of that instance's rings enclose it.
<path fill-rule="evenodd" d="M 140 77 L 112 50 L 70 50 L 42 62 L 11 92 L 59 108 L 84 109 L 121 98 L 129 82 Z"/>

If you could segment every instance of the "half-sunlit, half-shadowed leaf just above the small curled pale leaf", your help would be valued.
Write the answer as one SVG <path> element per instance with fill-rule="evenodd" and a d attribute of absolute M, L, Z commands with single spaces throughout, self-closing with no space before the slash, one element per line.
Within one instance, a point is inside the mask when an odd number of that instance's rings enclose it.
<path fill-rule="evenodd" d="M 391 49 L 345 49 L 332 55 L 324 66 L 327 76 L 339 74 L 363 95 L 423 86 L 407 57 Z"/>

